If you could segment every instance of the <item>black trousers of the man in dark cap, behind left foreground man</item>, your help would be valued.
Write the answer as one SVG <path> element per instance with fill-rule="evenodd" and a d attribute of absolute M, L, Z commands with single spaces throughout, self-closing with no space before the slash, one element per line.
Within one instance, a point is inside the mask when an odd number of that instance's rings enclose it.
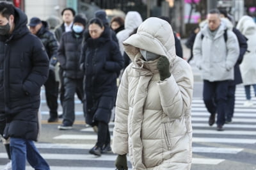
<path fill-rule="evenodd" d="M 59 83 L 55 80 L 55 74 L 52 70 L 49 70 L 49 76 L 44 84 L 45 97 L 47 106 L 50 109 L 51 117 L 58 117 L 58 86 Z"/>

